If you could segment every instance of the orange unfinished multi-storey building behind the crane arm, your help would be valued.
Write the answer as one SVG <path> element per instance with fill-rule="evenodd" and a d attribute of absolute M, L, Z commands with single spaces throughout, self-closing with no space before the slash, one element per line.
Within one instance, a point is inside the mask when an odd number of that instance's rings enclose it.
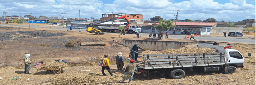
<path fill-rule="evenodd" d="M 118 14 L 102 14 L 102 18 L 100 18 L 100 21 L 108 20 L 116 17 L 122 17 L 127 16 L 128 19 L 143 19 L 143 15 L 141 14 L 124 14 L 124 13 L 118 13 Z"/>

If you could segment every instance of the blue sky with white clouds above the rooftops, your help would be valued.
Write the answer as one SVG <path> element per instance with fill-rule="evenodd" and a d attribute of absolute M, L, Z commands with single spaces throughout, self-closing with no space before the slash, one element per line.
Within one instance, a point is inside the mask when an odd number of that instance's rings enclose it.
<path fill-rule="evenodd" d="M 215 18 L 226 21 L 242 21 L 255 19 L 255 0 L 4 0 L 0 3 L 0 11 L 7 11 L 7 15 L 40 15 L 66 18 L 94 17 L 100 19 L 102 14 L 129 13 L 143 14 L 143 19 L 148 20 L 155 16 L 174 19 L 206 20 Z M 58 14 L 56 14 L 58 13 Z"/>

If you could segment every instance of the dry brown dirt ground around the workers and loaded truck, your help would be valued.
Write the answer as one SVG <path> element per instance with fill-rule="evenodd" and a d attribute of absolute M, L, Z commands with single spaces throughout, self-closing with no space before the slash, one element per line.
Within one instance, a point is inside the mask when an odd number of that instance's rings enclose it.
<path fill-rule="evenodd" d="M 141 74 L 135 74 L 132 83 L 119 83 L 122 80 L 123 71 L 116 70 L 114 56 L 122 52 L 124 57 L 129 55 L 130 47 L 122 45 L 123 39 L 136 39 L 134 36 L 119 34 L 95 35 L 87 32 L 60 31 L 35 28 L 0 27 L 0 85 L 254 85 L 255 84 L 255 45 L 235 44 L 245 57 L 242 69 L 237 69 L 233 74 L 221 72 L 186 72 L 182 79 L 162 78 L 160 75 L 152 75 L 150 79 Z M 139 39 L 148 40 L 147 36 Z M 136 39 L 137 40 L 137 39 Z M 177 39 L 163 39 L 161 41 L 174 41 Z M 66 47 L 67 42 L 77 43 L 75 47 Z M 157 41 L 157 40 L 156 40 Z M 187 41 L 187 40 L 179 40 Z M 108 46 L 80 46 L 81 42 L 107 42 Z M 226 43 L 221 43 L 226 44 Z M 33 74 L 23 74 L 24 65 L 21 58 L 31 54 L 32 67 L 39 61 L 54 62 L 57 59 L 65 59 L 70 67 L 65 68 L 64 73 L 46 74 L 44 70 L 36 71 L 31 68 Z M 247 57 L 252 53 L 251 57 Z M 101 67 L 95 65 L 100 57 L 109 54 L 112 73 L 115 76 L 102 76 Z M 127 63 L 127 61 L 125 62 Z M 18 79 L 11 80 L 19 76 Z M 126 80 L 128 82 L 128 80 Z"/>

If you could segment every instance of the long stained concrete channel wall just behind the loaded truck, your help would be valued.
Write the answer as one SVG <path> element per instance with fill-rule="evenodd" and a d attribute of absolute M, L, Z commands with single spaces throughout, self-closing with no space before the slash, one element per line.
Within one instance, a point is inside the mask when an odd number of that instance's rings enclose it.
<path fill-rule="evenodd" d="M 193 42 L 174 42 L 174 41 L 148 41 L 148 40 L 123 40 L 123 45 L 127 47 L 133 46 L 138 43 L 141 48 L 146 50 L 164 50 L 166 48 L 179 48 L 183 45 L 196 44 L 199 41 Z"/>

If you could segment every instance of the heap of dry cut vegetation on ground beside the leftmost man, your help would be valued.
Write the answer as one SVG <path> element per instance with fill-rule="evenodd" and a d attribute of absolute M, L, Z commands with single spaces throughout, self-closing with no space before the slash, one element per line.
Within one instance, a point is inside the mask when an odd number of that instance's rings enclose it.
<path fill-rule="evenodd" d="M 39 70 L 62 70 L 63 68 L 68 67 L 64 62 L 46 62 L 37 68 Z"/>

